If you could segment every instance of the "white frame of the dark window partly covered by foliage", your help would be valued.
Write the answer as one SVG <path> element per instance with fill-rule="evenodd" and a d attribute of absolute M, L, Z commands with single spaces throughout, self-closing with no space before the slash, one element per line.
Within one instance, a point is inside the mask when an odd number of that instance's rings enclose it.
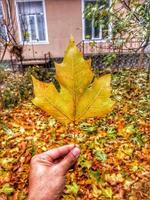
<path fill-rule="evenodd" d="M 85 1 L 91 1 L 91 0 L 81 0 L 81 12 L 82 12 L 82 39 L 85 41 L 85 42 L 89 42 L 89 41 L 96 41 L 96 42 L 106 42 L 106 39 L 103 39 L 102 38 L 102 27 L 100 27 L 100 32 L 99 32 L 99 38 L 94 38 L 93 35 L 94 35 L 94 29 L 93 29 L 93 23 L 94 23 L 94 20 L 92 20 L 92 38 L 91 39 L 87 39 L 85 38 L 85 17 L 84 17 L 84 9 L 85 9 Z M 92 0 L 92 1 L 97 1 L 97 0 Z M 109 0 L 110 4 L 112 2 L 112 0 Z M 109 35 L 109 38 L 111 39 L 112 37 L 112 24 L 109 23 L 108 25 L 108 35 Z"/>

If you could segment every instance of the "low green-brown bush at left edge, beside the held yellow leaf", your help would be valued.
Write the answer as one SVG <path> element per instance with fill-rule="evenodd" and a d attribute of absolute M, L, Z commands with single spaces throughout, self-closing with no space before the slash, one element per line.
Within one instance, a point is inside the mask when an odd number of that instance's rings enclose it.
<path fill-rule="evenodd" d="M 3 108 L 14 107 L 22 100 L 33 98 L 31 75 L 41 81 L 54 82 L 52 72 L 39 66 L 29 67 L 24 75 L 19 72 L 10 73 L 4 70 L 0 72 L 0 80 L 3 82 L 3 85 L 1 85 Z"/>

